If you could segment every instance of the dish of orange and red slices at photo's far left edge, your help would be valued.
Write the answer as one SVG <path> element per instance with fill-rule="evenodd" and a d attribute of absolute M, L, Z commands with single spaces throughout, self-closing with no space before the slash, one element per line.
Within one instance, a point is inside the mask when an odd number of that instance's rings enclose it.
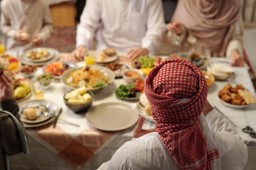
<path fill-rule="evenodd" d="M 0 55 L 0 63 L 4 69 L 18 72 L 21 62 L 17 57 L 13 57 L 8 54 Z"/>

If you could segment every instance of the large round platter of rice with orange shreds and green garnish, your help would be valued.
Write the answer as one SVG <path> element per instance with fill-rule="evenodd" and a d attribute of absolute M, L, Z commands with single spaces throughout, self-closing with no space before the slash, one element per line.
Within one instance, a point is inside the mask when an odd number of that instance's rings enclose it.
<path fill-rule="evenodd" d="M 88 91 L 98 91 L 115 79 L 113 71 L 104 66 L 78 67 L 63 73 L 61 81 L 70 88 L 85 86 Z"/>

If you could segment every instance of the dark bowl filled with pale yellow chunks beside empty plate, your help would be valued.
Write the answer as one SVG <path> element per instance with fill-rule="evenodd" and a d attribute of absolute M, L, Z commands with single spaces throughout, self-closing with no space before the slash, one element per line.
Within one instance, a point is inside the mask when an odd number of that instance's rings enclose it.
<path fill-rule="evenodd" d="M 64 95 L 65 105 L 75 113 L 84 113 L 94 101 L 92 91 L 87 91 L 85 86 L 76 88 Z"/>

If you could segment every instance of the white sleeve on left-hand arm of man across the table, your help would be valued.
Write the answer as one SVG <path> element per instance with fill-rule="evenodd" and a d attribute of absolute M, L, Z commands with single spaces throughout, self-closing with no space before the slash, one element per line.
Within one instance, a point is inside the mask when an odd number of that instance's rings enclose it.
<path fill-rule="evenodd" d="M 87 0 L 76 30 L 76 47 L 83 45 L 89 49 L 101 18 L 99 0 Z"/>

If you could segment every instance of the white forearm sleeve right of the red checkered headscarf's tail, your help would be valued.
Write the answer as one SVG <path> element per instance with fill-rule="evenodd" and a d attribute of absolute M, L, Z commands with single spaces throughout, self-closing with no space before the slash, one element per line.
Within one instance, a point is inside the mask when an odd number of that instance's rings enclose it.
<path fill-rule="evenodd" d="M 209 128 L 213 131 L 226 131 L 236 135 L 238 138 L 241 137 L 238 135 L 235 128 L 223 117 L 216 109 L 211 110 L 206 116 L 205 119 Z"/>

